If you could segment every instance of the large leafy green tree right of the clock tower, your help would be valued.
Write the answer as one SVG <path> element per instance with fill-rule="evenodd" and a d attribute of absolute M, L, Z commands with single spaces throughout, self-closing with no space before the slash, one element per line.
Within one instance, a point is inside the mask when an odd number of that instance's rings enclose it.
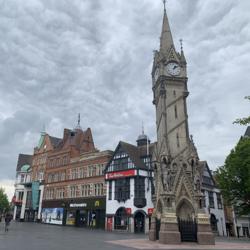
<path fill-rule="evenodd" d="M 219 167 L 216 179 L 226 202 L 239 214 L 250 214 L 250 138 L 241 138 Z"/>

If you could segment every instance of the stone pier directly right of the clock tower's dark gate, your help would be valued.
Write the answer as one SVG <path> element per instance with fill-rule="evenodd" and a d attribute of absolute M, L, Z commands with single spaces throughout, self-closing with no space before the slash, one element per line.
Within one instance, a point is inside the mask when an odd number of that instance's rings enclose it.
<path fill-rule="evenodd" d="M 205 213 L 197 215 L 197 241 L 201 245 L 215 245 L 209 217 Z"/>

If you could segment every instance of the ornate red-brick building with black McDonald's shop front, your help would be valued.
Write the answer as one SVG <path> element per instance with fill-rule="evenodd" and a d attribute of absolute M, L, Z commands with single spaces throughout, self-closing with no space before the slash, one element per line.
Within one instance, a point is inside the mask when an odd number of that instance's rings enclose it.
<path fill-rule="evenodd" d="M 111 151 L 98 151 L 91 129 L 64 130 L 48 154 L 42 222 L 105 227 L 104 167 Z"/>

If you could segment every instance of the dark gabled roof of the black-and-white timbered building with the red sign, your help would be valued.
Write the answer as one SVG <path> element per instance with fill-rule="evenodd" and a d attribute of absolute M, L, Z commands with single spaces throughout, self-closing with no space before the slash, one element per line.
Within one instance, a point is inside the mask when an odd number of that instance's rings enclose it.
<path fill-rule="evenodd" d="M 149 155 L 152 155 L 154 144 L 149 144 L 148 146 L 149 146 L 148 153 L 149 153 Z M 113 157 L 116 155 L 116 153 L 120 149 L 128 154 L 129 158 L 132 160 L 132 162 L 134 163 L 136 168 L 147 170 L 147 166 L 142 160 L 142 157 L 147 155 L 147 145 L 138 147 L 138 146 L 132 145 L 130 143 L 120 141 L 118 143 L 114 153 L 113 153 Z M 113 160 L 113 157 L 108 162 L 105 171 L 107 171 L 107 168 L 108 168 L 110 162 Z"/>

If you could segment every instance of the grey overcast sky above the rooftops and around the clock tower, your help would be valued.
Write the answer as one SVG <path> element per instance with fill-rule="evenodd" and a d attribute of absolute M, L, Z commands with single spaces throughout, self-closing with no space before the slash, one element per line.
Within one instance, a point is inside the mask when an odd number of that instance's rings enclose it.
<path fill-rule="evenodd" d="M 188 63 L 188 114 L 201 160 L 223 164 L 249 115 L 250 1 L 169 0 Z M 32 154 L 43 124 L 52 136 L 92 129 L 97 148 L 135 143 L 144 121 L 156 138 L 153 50 L 161 0 L 0 0 L 0 186 L 12 194 L 19 153 Z"/>

